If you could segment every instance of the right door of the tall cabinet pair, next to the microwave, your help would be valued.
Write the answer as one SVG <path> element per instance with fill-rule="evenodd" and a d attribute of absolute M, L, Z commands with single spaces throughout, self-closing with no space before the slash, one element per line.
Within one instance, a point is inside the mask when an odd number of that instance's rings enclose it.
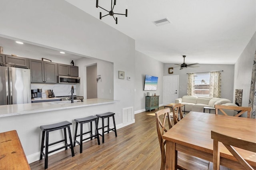
<path fill-rule="evenodd" d="M 57 83 L 58 64 L 44 61 L 44 82 Z"/>

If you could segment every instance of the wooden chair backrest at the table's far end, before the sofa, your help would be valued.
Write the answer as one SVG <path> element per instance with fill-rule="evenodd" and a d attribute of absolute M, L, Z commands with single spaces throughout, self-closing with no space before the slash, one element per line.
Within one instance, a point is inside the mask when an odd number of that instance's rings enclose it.
<path fill-rule="evenodd" d="M 225 105 L 214 105 L 215 107 L 215 114 L 218 115 L 218 110 L 220 110 L 224 115 L 228 116 L 223 109 L 229 109 L 229 110 L 236 110 L 240 111 L 238 112 L 236 117 L 239 117 L 242 115 L 244 112 L 247 111 L 247 118 L 250 118 L 250 113 L 252 111 L 251 107 L 240 107 L 240 106 L 225 106 Z"/>

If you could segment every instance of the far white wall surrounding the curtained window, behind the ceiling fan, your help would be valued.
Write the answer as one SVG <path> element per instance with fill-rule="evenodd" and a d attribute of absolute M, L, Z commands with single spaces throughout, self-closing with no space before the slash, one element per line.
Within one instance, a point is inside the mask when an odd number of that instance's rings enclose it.
<path fill-rule="evenodd" d="M 200 61 L 198 61 L 200 63 Z M 199 67 L 181 69 L 176 67 L 177 65 L 164 63 L 164 75 L 179 75 L 179 97 L 187 95 L 187 83 L 188 75 L 187 73 L 198 73 L 198 72 L 208 72 L 208 71 L 220 71 L 221 72 L 221 97 L 233 101 L 234 92 L 234 65 L 222 65 L 222 64 L 198 64 Z M 174 68 L 173 74 L 168 73 L 169 67 Z"/>

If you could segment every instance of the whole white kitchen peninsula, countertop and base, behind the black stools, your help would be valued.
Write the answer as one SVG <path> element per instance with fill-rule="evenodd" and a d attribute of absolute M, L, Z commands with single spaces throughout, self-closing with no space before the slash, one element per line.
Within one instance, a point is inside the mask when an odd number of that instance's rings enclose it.
<path fill-rule="evenodd" d="M 83 102 L 50 101 L 42 103 L 26 103 L 17 105 L 0 105 L 0 132 L 16 130 L 26 154 L 28 163 L 40 158 L 40 144 L 42 138 L 41 125 L 50 125 L 62 121 L 69 121 L 72 138 L 74 136 L 74 119 L 84 118 L 106 112 L 116 113 L 116 128 L 128 124 L 122 123 L 121 102 L 110 99 L 85 99 Z M 101 121 L 98 127 L 101 127 Z M 95 125 L 93 125 L 95 126 Z M 110 121 L 110 127 L 113 127 Z M 89 131 L 89 126 L 84 126 Z M 58 141 L 63 138 L 63 130 L 50 132 L 51 140 Z M 51 146 L 54 150 L 55 146 Z M 64 150 L 64 149 L 63 149 Z M 56 151 L 57 152 L 57 151 Z M 55 154 L 54 152 L 53 154 Z M 0 168 L 1 169 L 1 168 Z"/>

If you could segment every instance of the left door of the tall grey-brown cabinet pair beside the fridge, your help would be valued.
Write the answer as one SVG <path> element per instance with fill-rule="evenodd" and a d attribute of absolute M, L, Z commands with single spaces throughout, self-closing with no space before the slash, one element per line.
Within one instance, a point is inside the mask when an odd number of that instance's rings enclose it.
<path fill-rule="evenodd" d="M 29 59 L 32 83 L 44 83 L 44 61 Z"/>

